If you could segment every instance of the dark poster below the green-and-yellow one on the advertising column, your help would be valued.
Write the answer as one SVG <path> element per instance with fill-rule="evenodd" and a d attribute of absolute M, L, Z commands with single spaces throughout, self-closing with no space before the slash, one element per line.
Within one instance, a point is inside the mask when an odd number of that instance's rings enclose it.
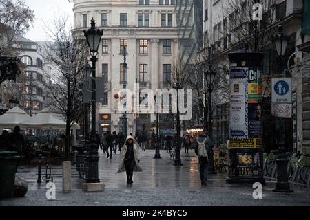
<path fill-rule="evenodd" d="M 250 104 L 248 105 L 249 111 L 249 137 L 258 137 L 262 136 L 262 107 L 260 104 Z"/>

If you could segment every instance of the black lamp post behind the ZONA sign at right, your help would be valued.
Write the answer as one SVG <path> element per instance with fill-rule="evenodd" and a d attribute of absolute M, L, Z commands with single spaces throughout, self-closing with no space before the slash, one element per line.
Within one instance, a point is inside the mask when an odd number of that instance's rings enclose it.
<path fill-rule="evenodd" d="M 281 67 L 284 61 L 285 50 L 287 49 L 288 37 L 287 34 L 283 32 L 283 26 L 278 26 L 278 33 L 273 36 L 273 43 L 276 46 L 276 51 L 278 58 L 280 60 Z M 283 118 L 280 118 L 280 129 L 278 131 L 278 153 L 276 157 L 276 164 L 278 168 L 277 172 L 277 182 L 276 188 L 273 190 L 275 192 L 293 192 L 289 186 L 289 178 L 287 173 L 287 166 L 289 160 L 287 159 L 287 143 L 285 143 L 285 123 Z"/>

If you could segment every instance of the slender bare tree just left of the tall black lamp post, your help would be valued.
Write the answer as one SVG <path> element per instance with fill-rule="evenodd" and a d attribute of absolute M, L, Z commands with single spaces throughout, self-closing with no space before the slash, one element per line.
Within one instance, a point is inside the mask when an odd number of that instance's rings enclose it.
<path fill-rule="evenodd" d="M 49 74 L 52 83 L 48 86 L 50 96 L 57 103 L 52 110 L 66 121 L 66 157 L 70 148 L 70 127 L 83 115 L 82 84 L 87 63 L 85 41 L 72 36 L 67 28 L 68 17 L 59 15 L 46 31 L 54 43 L 47 45 L 46 60 L 56 72 Z M 82 49 L 81 49 L 82 48 Z"/>

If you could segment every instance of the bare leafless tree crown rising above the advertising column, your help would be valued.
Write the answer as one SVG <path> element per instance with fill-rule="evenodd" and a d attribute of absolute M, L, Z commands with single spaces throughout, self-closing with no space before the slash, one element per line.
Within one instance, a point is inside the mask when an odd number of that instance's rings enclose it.
<path fill-rule="evenodd" d="M 261 20 L 253 17 L 253 7 L 256 3 L 262 7 Z M 220 33 L 229 36 L 228 41 L 235 49 L 243 49 L 244 42 L 246 42 L 252 50 L 264 51 L 274 34 L 270 24 L 276 10 L 271 6 L 269 0 L 225 1 L 222 13 L 219 15 L 223 20 L 223 28 L 220 28 Z"/>

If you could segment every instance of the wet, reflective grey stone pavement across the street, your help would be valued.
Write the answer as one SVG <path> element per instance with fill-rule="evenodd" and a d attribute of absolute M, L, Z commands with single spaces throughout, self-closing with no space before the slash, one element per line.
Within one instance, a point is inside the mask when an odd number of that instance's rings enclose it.
<path fill-rule="evenodd" d="M 140 152 L 143 172 L 134 173 L 134 184 L 126 184 L 125 173 L 117 173 L 119 152 L 107 159 L 100 151 L 99 178 L 103 192 L 82 192 L 75 166 L 72 166 L 72 192 L 62 192 L 61 166 L 52 166 L 56 199 L 45 197 L 45 181 L 37 184 L 37 166 L 20 166 L 17 175 L 28 181 L 22 198 L 0 200 L 0 206 L 310 206 L 310 188 L 292 184 L 291 194 L 272 192 L 275 181 L 263 186 L 262 199 L 253 199 L 247 184 L 227 184 L 226 173 L 210 175 L 207 186 L 200 186 L 198 158 L 194 151 L 182 151 L 183 166 L 174 166 L 169 153 L 153 159 L 154 150 Z M 42 170 L 45 175 L 45 170 Z"/>

